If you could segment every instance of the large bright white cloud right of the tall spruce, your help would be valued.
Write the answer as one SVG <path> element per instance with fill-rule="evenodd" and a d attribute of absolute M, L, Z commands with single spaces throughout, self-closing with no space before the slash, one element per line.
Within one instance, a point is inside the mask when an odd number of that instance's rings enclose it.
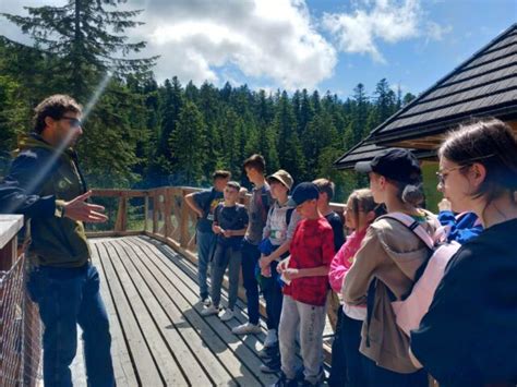
<path fill-rule="evenodd" d="M 224 83 L 220 69 L 287 89 L 313 88 L 333 75 L 335 48 L 320 35 L 301 0 L 132 0 L 146 25 L 133 32 L 160 55 L 158 81 Z"/>

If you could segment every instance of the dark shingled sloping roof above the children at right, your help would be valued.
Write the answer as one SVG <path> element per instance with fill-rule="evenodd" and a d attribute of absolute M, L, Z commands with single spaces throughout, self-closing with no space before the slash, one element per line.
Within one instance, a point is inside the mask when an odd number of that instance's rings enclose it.
<path fill-rule="evenodd" d="M 517 118 L 517 24 L 375 128 L 335 166 L 350 168 L 383 146 L 440 135 L 474 117 Z"/>

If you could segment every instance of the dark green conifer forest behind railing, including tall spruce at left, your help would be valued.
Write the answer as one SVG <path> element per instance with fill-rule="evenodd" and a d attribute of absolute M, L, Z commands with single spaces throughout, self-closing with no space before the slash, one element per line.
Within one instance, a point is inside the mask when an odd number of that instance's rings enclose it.
<path fill-rule="evenodd" d="M 158 83 L 157 58 L 117 57 L 145 47 L 123 35 L 139 25 L 140 11 L 118 11 L 117 3 L 71 0 L 31 8 L 26 17 L 3 15 L 34 46 L 0 37 L 0 174 L 16 135 L 31 131 L 34 106 L 68 93 L 85 107 L 77 150 L 92 186 L 206 186 L 218 168 L 249 186 L 241 165 L 260 153 L 268 172 L 284 168 L 297 182 L 333 179 L 342 199 L 364 182 L 333 161 L 414 98 L 385 78 L 374 90 L 359 83 L 346 99 L 332 92 L 181 84 L 173 74 Z"/>

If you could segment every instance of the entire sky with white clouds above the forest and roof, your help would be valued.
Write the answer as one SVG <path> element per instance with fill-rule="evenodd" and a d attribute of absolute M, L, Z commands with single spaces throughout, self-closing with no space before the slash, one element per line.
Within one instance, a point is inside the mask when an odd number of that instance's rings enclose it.
<path fill-rule="evenodd" d="M 0 0 L 0 12 L 63 0 Z M 159 82 L 369 94 L 386 77 L 419 94 L 517 22 L 517 0 L 129 0 L 129 32 L 160 55 Z M 0 35 L 23 39 L 0 22 Z"/>

